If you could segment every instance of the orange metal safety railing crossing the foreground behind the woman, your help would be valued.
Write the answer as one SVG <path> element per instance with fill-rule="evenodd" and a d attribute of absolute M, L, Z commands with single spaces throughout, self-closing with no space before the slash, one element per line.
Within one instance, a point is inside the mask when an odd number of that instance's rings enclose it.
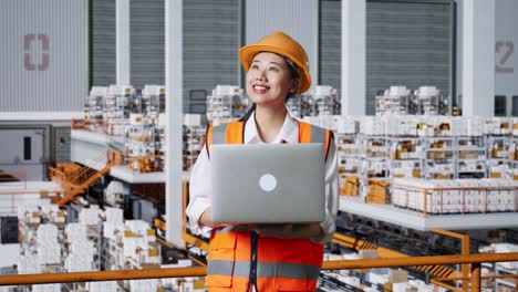
<path fill-rule="evenodd" d="M 431 264 L 470 264 L 470 273 L 468 277 L 447 278 L 447 279 L 441 279 L 441 280 L 446 280 L 446 281 L 453 281 L 457 279 L 469 280 L 470 291 L 478 292 L 480 291 L 480 280 L 483 278 L 481 272 L 480 272 L 480 264 L 489 263 L 489 262 L 505 262 L 505 261 L 518 261 L 518 252 L 325 261 L 322 264 L 322 270 L 400 268 L 400 267 L 416 267 L 416 265 L 431 265 Z M 48 274 L 17 274 L 17 275 L 1 275 L 0 285 L 75 283 L 75 282 L 95 282 L 95 281 L 203 277 L 203 275 L 206 275 L 206 272 L 207 272 L 206 267 L 190 267 L 190 268 L 168 268 L 168 269 L 149 269 L 149 270 L 71 272 L 71 273 L 48 273 Z M 509 275 L 506 275 L 506 277 L 509 278 Z M 455 288 L 455 290 L 458 290 L 458 289 Z"/>

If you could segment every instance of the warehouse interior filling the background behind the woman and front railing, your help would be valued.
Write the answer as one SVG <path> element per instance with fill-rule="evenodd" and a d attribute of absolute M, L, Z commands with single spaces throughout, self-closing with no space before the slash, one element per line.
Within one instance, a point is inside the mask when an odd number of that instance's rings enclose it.
<path fill-rule="evenodd" d="M 1 1 L 0 291 L 206 291 L 9 277 L 206 267 L 189 171 L 207 126 L 250 108 L 238 50 L 272 31 L 309 56 L 289 113 L 335 137 L 324 262 L 465 260 L 323 269 L 318 291 L 518 291 L 517 15 L 516 0 Z"/>

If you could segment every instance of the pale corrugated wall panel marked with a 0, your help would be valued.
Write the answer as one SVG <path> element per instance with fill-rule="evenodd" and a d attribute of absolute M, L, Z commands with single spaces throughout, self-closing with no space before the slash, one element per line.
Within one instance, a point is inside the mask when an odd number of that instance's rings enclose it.
<path fill-rule="evenodd" d="M 13 112 L 82 109 L 89 92 L 87 2 L 0 1 L 0 119 Z"/>

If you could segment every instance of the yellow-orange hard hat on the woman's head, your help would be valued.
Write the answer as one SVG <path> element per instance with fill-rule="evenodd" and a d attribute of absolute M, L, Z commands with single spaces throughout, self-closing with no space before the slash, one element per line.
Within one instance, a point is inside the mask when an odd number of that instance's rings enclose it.
<path fill-rule="evenodd" d="M 274 31 L 257 43 L 245 45 L 239 50 L 239 59 L 245 71 L 250 69 L 253 56 L 260 52 L 272 52 L 291 60 L 297 65 L 297 73 L 300 76 L 300 86 L 297 93 L 309 90 L 311 75 L 309 73 L 308 54 L 300 43 L 281 31 Z"/>

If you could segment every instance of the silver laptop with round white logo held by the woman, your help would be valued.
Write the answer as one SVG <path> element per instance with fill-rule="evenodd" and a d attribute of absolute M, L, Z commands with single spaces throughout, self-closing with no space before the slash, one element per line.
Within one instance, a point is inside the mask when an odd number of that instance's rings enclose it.
<path fill-rule="evenodd" d="M 325 218 L 321 143 L 213 145 L 213 222 L 303 223 Z"/>

